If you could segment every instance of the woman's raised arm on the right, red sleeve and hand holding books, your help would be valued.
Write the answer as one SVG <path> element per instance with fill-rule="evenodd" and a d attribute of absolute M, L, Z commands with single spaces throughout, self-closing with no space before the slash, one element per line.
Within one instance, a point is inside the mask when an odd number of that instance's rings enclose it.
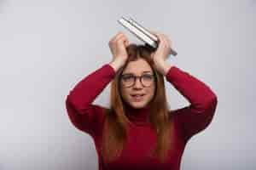
<path fill-rule="evenodd" d="M 152 32 L 160 39 L 159 47 L 151 55 L 156 70 L 165 75 L 166 80 L 189 100 L 189 106 L 172 111 L 174 121 L 181 128 L 184 139 L 188 140 L 212 121 L 217 107 L 217 96 L 204 82 L 174 65 L 167 64 L 166 59 L 170 54 L 172 42 L 165 34 Z"/>

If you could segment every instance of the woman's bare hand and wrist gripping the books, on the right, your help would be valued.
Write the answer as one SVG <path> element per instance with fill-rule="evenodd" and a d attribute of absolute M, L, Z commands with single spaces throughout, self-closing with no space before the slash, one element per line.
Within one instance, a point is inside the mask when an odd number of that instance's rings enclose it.
<path fill-rule="evenodd" d="M 162 34 L 157 31 L 150 31 L 150 32 L 153 33 L 160 40 L 158 48 L 153 54 L 151 54 L 151 57 L 154 61 L 154 66 L 158 71 L 160 71 L 162 74 L 165 75 L 166 70 L 170 66 L 166 64 L 166 59 L 170 54 L 172 42 L 165 34 Z"/>

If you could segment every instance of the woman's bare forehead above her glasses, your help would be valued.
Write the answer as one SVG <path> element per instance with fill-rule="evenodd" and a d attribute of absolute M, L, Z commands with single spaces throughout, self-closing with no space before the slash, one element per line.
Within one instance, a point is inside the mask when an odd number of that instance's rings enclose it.
<path fill-rule="evenodd" d="M 137 59 L 136 61 L 131 61 L 126 65 L 123 74 L 125 73 L 133 73 L 133 74 L 142 74 L 144 71 L 153 72 L 150 65 L 145 59 Z"/>

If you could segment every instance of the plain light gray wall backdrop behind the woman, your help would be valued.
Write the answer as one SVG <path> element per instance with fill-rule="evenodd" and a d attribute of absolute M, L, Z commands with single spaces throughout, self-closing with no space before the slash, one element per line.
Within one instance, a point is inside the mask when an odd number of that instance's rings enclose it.
<path fill-rule="evenodd" d="M 172 39 L 167 62 L 218 95 L 182 169 L 256 168 L 256 1 L 0 0 L 0 169 L 97 169 L 96 149 L 67 117 L 69 90 L 112 59 L 108 41 L 131 16 Z M 110 86 L 94 103 L 108 106 Z M 172 109 L 189 105 L 166 83 Z"/>

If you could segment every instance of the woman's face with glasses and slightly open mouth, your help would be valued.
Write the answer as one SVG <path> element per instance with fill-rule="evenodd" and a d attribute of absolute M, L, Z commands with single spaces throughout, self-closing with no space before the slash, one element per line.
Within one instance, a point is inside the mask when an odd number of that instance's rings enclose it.
<path fill-rule="evenodd" d="M 120 93 L 128 105 L 133 108 L 143 108 L 154 97 L 154 71 L 144 59 L 131 61 L 121 74 Z M 135 82 L 132 81 L 136 76 Z M 140 78 L 141 77 L 141 81 Z M 132 83 L 134 82 L 134 83 Z M 142 83 L 143 82 L 143 83 Z M 133 84 L 133 86 L 131 86 Z"/>

